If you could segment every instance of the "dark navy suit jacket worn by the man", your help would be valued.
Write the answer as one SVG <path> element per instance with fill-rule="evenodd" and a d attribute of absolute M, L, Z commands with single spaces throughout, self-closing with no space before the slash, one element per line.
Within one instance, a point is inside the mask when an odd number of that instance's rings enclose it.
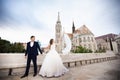
<path fill-rule="evenodd" d="M 26 55 L 35 55 L 35 56 L 37 56 L 38 55 L 38 50 L 42 54 L 42 50 L 40 49 L 40 46 L 39 46 L 38 42 L 34 42 L 32 47 L 30 46 L 30 42 L 28 42 L 26 52 L 25 52 L 25 56 Z"/>

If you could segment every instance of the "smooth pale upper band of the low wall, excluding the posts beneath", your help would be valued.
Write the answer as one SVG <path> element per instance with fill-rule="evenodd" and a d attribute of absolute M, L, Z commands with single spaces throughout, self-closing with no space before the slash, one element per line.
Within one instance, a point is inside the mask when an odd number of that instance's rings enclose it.
<path fill-rule="evenodd" d="M 42 64 L 46 54 L 40 54 L 37 56 L 37 63 Z M 104 57 L 112 57 L 115 56 L 113 52 L 108 53 L 87 53 L 87 54 L 67 54 L 60 55 L 63 63 L 66 61 L 72 60 L 86 60 L 86 59 L 94 59 L 94 58 L 104 58 Z M 26 66 L 27 59 L 24 56 L 24 53 L 0 53 L 0 68 L 9 68 L 9 67 L 21 67 Z M 31 64 L 33 64 L 31 62 Z"/>

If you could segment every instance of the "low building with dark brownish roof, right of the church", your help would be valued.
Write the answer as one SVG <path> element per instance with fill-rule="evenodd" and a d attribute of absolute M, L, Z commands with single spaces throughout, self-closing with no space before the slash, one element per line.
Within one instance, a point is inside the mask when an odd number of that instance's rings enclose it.
<path fill-rule="evenodd" d="M 115 53 L 118 52 L 117 43 L 115 41 L 116 34 L 106 34 L 96 37 L 98 49 L 111 50 Z"/>

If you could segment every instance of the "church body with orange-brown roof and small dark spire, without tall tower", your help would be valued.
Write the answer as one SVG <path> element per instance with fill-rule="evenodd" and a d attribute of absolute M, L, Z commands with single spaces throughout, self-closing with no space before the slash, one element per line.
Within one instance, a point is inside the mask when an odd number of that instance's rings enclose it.
<path fill-rule="evenodd" d="M 94 38 L 94 34 L 86 27 L 82 25 L 80 28 L 75 29 L 73 22 L 72 34 L 68 34 L 72 40 L 72 50 L 75 50 L 77 46 L 82 46 L 95 52 L 97 50 L 97 44 Z"/>

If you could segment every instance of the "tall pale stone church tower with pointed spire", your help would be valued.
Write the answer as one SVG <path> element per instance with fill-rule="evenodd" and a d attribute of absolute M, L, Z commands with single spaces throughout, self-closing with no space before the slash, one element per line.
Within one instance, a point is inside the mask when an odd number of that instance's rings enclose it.
<path fill-rule="evenodd" d="M 56 51 L 62 53 L 62 25 L 60 21 L 60 15 L 58 12 L 58 20 L 55 26 L 55 42 L 56 42 Z"/>

